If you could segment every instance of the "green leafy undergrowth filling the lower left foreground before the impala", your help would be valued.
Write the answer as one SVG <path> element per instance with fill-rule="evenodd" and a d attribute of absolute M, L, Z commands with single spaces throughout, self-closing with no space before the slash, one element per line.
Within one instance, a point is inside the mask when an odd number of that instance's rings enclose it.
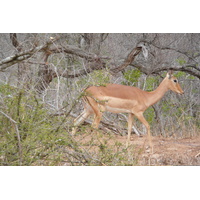
<path fill-rule="evenodd" d="M 86 128 L 71 135 L 68 116 L 52 116 L 35 93 L 0 85 L 0 94 L 0 165 L 137 164 L 134 148 L 112 135 Z"/>

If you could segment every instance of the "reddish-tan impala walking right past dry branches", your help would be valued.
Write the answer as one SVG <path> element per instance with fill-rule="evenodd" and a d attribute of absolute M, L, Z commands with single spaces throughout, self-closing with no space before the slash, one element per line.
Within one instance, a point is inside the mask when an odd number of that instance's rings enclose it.
<path fill-rule="evenodd" d="M 147 108 L 158 102 L 168 90 L 178 94 L 184 93 L 177 78 L 172 75 L 172 71 L 167 73 L 158 88 L 152 92 L 118 84 L 88 87 L 82 98 L 84 111 L 74 120 L 73 134 L 76 132 L 76 127 L 92 114 L 94 114 L 92 126 L 98 128 L 103 112 L 128 113 L 128 138 L 126 145 L 128 146 L 129 144 L 133 118 L 136 116 L 146 127 L 149 145 L 152 147 L 150 126 L 143 113 Z"/>

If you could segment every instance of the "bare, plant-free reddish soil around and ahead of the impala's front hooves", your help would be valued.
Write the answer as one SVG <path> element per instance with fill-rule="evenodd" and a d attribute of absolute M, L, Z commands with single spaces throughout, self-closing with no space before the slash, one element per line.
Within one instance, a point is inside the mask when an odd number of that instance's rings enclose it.
<path fill-rule="evenodd" d="M 126 141 L 125 136 L 116 136 L 120 142 Z M 150 152 L 147 136 L 131 137 L 131 144 L 136 146 L 140 165 L 200 165 L 200 137 L 165 138 L 153 136 L 153 153 Z M 139 151 L 139 149 L 141 151 Z"/>

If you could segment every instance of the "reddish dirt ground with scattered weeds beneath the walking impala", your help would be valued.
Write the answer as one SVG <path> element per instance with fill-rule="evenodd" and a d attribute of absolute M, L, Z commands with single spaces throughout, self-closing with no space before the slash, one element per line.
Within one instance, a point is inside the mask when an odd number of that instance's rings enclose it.
<path fill-rule="evenodd" d="M 192 138 L 153 136 L 153 153 L 148 148 L 146 135 L 143 137 L 132 135 L 128 148 L 126 148 L 126 135 L 109 135 L 96 130 L 93 132 L 88 130 L 87 134 L 80 131 L 76 140 L 81 149 L 95 155 L 103 165 L 200 166 L 199 136 Z"/>

